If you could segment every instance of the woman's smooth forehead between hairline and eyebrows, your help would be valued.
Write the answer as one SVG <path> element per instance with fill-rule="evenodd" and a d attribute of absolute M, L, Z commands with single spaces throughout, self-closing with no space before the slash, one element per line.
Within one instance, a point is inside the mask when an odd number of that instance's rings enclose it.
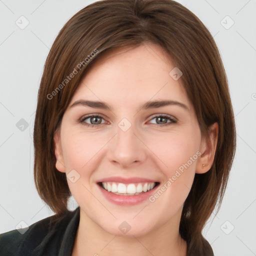
<path fill-rule="evenodd" d="M 188 104 L 181 79 L 169 74 L 174 67 L 164 50 L 153 43 L 108 51 L 89 67 L 70 104 L 80 98 L 119 106 L 150 99 Z"/>

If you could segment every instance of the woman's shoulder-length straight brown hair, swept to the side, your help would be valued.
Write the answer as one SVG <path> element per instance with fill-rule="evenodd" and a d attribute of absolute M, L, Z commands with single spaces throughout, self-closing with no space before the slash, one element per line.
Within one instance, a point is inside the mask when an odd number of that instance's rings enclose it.
<path fill-rule="evenodd" d="M 218 210 L 222 201 L 235 151 L 234 116 L 225 70 L 211 34 L 191 11 L 173 0 L 96 1 L 78 11 L 60 30 L 38 91 L 36 189 L 56 215 L 67 210 L 70 191 L 65 173 L 55 168 L 54 132 L 91 63 L 103 52 L 146 42 L 160 45 L 182 71 L 180 79 L 194 106 L 201 134 L 208 137 L 208 127 L 214 122 L 219 126 L 213 164 L 206 173 L 195 174 L 179 226 L 187 241 L 187 255 L 212 255 L 201 231 L 215 205 L 218 203 Z M 67 79 L 70 73 L 75 75 Z"/>

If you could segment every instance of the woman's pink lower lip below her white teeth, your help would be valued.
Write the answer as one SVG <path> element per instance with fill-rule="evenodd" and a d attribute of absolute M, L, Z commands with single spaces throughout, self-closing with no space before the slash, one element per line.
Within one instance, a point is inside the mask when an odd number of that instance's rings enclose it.
<path fill-rule="evenodd" d="M 100 186 L 100 184 L 97 185 L 108 201 L 118 205 L 134 205 L 145 201 L 150 195 L 155 192 L 155 189 L 159 186 L 159 184 L 157 184 L 153 189 L 136 195 L 119 195 L 105 190 Z"/>

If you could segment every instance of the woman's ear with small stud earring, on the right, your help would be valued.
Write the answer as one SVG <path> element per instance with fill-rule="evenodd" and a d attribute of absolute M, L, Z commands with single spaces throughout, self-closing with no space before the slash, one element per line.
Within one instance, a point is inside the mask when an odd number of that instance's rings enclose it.
<path fill-rule="evenodd" d="M 200 144 L 200 152 L 197 163 L 196 163 L 196 173 L 207 172 L 214 160 L 215 151 L 217 147 L 218 139 L 218 123 L 215 122 L 209 127 L 209 139 L 202 138 Z"/>

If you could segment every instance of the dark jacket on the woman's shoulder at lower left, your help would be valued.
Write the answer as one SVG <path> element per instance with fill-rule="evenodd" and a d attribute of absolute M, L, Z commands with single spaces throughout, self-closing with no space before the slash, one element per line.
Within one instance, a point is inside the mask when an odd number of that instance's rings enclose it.
<path fill-rule="evenodd" d="M 71 256 L 80 207 L 52 224 L 54 216 L 31 224 L 23 234 L 16 229 L 0 234 L 0 256 Z"/>

